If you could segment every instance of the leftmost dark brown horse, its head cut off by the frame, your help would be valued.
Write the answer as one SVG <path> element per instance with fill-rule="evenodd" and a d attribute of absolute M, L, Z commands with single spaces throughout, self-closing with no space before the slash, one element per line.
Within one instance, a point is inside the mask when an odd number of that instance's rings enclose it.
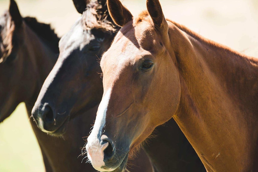
<path fill-rule="evenodd" d="M 22 18 L 13 0 L 9 11 L 0 18 L 0 32 L 0 121 L 20 102 L 25 102 L 28 116 L 31 116 L 41 86 L 57 60 L 59 38 L 49 25 L 34 18 Z M 95 113 L 96 109 L 89 111 Z M 82 158 L 77 159 L 84 144 L 82 136 L 88 133 L 88 129 L 82 127 L 88 118 L 71 120 L 64 139 L 43 133 L 32 118 L 30 122 L 47 172 L 95 172 L 90 164 L 81 163 Z"/>

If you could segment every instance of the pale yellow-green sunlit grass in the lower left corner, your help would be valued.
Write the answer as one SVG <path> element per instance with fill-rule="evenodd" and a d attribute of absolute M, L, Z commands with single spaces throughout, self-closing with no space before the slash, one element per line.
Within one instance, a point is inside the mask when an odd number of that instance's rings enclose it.
<path fill-rule="evenodd" d="M 0 171 L 42 172 L 43 159 L 28 121 L 25 104 L 0 124 Z"/>

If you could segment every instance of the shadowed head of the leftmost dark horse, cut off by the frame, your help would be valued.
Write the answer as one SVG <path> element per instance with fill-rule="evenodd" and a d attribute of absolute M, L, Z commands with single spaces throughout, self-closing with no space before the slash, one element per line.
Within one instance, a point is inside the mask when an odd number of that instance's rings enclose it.
<path fill-rule="evenodd" d="M 9 12 L 10 11 L 10 12 Z M 0 122 L 16 106 L 32 96 L 32 62 L 25 49 L 24 24 L 19 9 L 11 1 L 9 11 L 0 17 Z"/>

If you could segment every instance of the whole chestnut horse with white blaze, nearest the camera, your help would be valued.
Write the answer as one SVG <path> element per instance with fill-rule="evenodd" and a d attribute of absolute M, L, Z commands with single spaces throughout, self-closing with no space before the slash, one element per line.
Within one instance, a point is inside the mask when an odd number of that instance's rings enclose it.
<path fill-rule="evenodd" d="M 165 19 L 158 0 L 136 17 L 119 0 L 107 4 L 122 28 L 100 63 L 104 93 L 86 145 L 93 167 L 121 172 L 174 118 L 207 171 L 258 171 L 258 61 Z"/>

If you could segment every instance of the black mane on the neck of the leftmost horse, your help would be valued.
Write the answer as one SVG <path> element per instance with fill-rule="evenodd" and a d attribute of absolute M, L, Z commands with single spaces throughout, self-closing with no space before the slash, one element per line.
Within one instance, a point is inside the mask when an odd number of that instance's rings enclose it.
<path fill-rule="evenodd" d="M 23 18 L 25 23 L 40 37 L 46 44 L 54 51 L 54 53 L 59 53 L 58 42 L 60 38 L 51 29 L 49 24 L 40 23 L 34 17 Z"/>

